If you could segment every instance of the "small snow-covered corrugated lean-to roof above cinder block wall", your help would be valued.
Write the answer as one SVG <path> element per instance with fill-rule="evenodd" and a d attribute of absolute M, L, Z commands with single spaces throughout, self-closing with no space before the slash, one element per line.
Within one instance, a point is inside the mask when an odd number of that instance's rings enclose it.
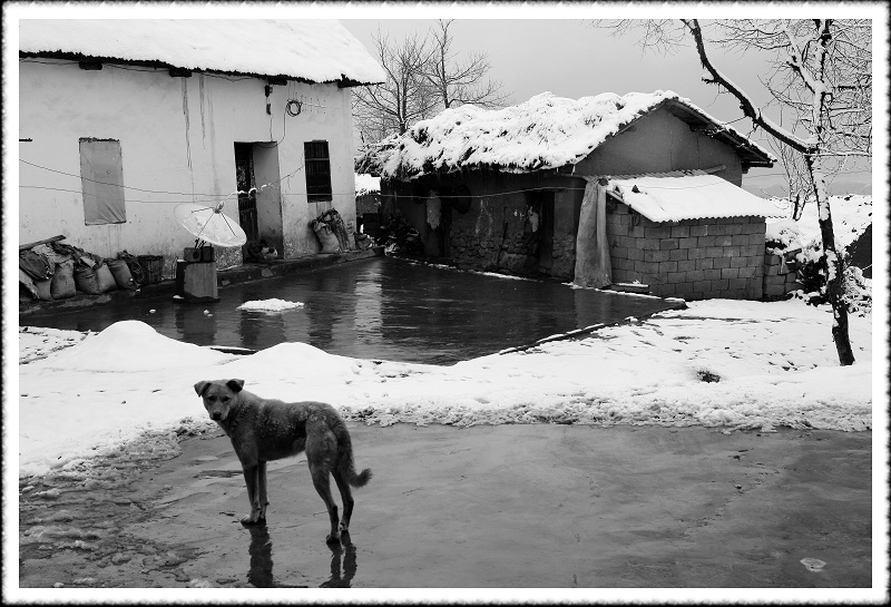
<path fill-rule="evenodd" d="M 652 222 L 783 215 L 768 200 L 701 170 L 610 178 L 607 190 Z"/>

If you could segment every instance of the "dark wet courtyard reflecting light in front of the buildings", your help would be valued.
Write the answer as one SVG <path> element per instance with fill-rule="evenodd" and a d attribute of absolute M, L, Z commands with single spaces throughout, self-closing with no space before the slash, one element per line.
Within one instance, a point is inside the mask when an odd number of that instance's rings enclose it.
<path fill-rule="evenodd" d="M 659 298 L 520 281 L 372 257 L 229 285 L 213 304 L 169 294 L 79 311 L 35 314 L 20 324 L 101 331 L 139 320 L 198 345 L 252 350 L 304 342 L 332 354 L 452 364 L 597 323 L 667 309 Z M 278 313 L 242 311 L 254 300 L 302 302 Z M 153 312 L 154 311 L 154 312 Z"/>

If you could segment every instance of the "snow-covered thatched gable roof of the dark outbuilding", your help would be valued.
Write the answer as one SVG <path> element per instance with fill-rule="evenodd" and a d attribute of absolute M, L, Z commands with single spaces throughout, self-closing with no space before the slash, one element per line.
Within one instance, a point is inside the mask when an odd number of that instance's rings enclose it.
<path fill-rule="evenodd" d="M 605 92 L 567 99 L 542 92 L 502 109 L 466 105 L 420 120 L 402 136 L 371 146 L 356 172 L 413 179 L 433 172 L 497 168 L 528 173 L 574 165 L 637 118 L 667 106 L 736 148 L 747 166 L 772 166 L 770 153 L 673 91 Z"/>

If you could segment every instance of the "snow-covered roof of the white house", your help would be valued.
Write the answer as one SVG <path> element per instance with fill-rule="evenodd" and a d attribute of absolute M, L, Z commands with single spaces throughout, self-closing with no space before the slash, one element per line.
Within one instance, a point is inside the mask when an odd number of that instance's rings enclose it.
<path fill-rule="evenodd" d="M 385 79 L 362 43 L 336 20 L 23 19 L 19 51 L 311 82 Z"/>

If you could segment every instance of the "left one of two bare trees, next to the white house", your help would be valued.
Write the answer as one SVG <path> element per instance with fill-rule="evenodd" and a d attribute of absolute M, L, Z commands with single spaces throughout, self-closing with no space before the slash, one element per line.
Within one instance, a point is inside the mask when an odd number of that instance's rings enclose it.
<path fill-rule="evenodd" d="M 374 47 L 386 81 L 354 90 L 353 114 L 363 143 L 405 133 L 413 123 L 429 118 L 437 105 L 423 77 L 430 50 L 417 33 L 393 43 L 379 29 Z"/>

